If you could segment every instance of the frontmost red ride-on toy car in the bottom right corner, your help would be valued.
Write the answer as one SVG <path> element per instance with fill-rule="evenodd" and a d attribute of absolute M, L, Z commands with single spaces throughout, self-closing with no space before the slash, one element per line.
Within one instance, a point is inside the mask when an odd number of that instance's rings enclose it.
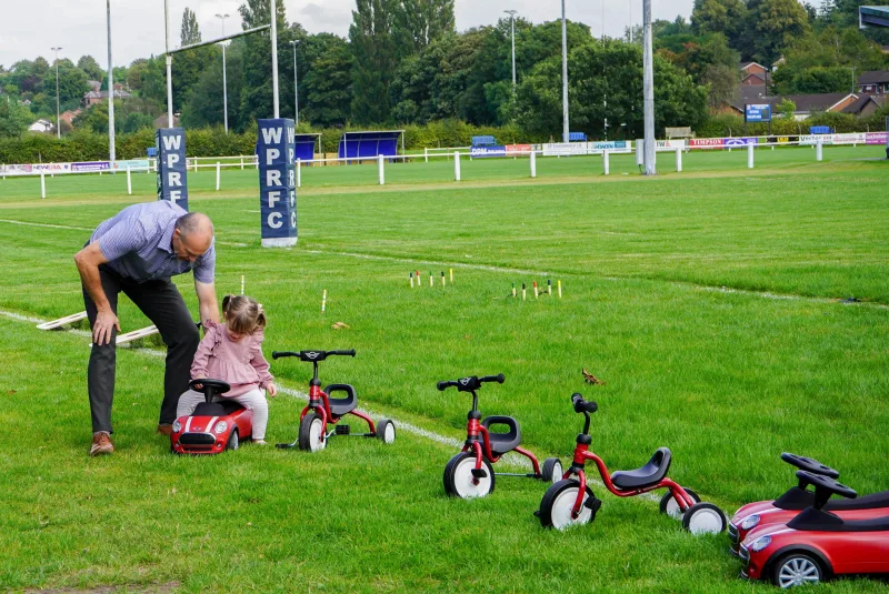
<path fill-rule="evenodd" d="M 889 574 L 889 514 L 846 520 L 825 506 L 835 494 L 855 499 L 855 491 L 822 474 L 797 471 L 797 477 L 815 486 L 812 506 L 787 524 L 751 531 L 741 543 L 741 577 L 787 588 L 836 575 Z"/>

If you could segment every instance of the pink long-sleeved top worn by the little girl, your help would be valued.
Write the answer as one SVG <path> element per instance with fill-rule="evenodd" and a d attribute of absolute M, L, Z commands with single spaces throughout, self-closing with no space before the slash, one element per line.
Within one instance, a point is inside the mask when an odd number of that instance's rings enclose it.
<path fill-rule="evenodd" d="M 269 373 L 269 362 L 262 356 L 262 329 L 257 330 L 239 342 L 229 339 L 224 324 L 212 321 L 204 323 L 206 334 L 194 353 L 191 364 L 191 379 L 212 377 L 231 385 L 222 397 L 240 396 L 257 387 L 266 387 L 273 382 Z"/>

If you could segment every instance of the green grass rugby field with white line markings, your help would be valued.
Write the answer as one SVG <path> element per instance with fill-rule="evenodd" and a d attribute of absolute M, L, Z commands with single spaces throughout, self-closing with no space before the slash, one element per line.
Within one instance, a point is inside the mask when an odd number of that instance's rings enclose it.
<path fill-rule="evenodd" d="M 671 476 L 731 514 L 792 481 L 782 451 L 838 467 L 861 493 L 887 489 L 889 165 L 882 148 L 390 165 L 303 171 L 299 244 L 259 248 L 256 171 L 189 174 L 191 210 L 217 228 L 217 288 L 258 298 L 266 352 L 354 348 L 326 383 L 396 419 L 398 441 L 332 441 L 318 454 L 244 446 L 173 457 L 153 433 L 158 345 L 118 355 L 112 456 L 88 459 L 87 342 L 12 318 L 82 310 L 72 254 L 154 179 L 0 181 L 0 586 L 108 592 L 770 592 L 737 577 L 728 538 L 695 537 L 647 499 L 596 522 L 543 531 L 545 485 L 501 479 L 480 501 L 443 494 L 469 399 L 439 380 L 502 372 L 483 414 L 510 414 L 540 457 L 569 459 L 597 400 L 593 450 L 611 470 L 673 452 Z M 636 170 L 636 171 L 635 171 Z M 621 173 L 627 173 L 622 175 Z M 47 226 L 51 225 L 51 226 Z M 455 283 L 439 274 L 453 268 Z M 411 290 L 408 272 L 434 273 Z M 511 283 L 562 281 L 565 296 L 508 299 Z M 197 311 L 190 278 L 181 278 Z M 322 290 L 327 313 L 320 312 Z M 847 298 L 859 302 L 841 303 Z M 123 330 L 147 322 L 121 300 Z M 350 328 L 333 330 L 334 322 Z M 582 383 L 587 368 L 606 382 Z M 304 390 L 310 366 L 272 364 Z M 296 437 L 303 402 L 271 402 L 269 441 Z M 401 424 L 399 425 L 399 422 Z M 840 581 L 823 592 L 887 592 Z"/>

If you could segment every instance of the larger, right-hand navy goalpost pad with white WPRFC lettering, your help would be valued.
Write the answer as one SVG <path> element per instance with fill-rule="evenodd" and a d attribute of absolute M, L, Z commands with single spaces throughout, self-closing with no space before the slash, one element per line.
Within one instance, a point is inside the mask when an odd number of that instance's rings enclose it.
<path fill-rule="evenodd" d="M 259 202 L 263 248 L 297 243 L 297 168 L 293 120 L 259 120 Z"/>

